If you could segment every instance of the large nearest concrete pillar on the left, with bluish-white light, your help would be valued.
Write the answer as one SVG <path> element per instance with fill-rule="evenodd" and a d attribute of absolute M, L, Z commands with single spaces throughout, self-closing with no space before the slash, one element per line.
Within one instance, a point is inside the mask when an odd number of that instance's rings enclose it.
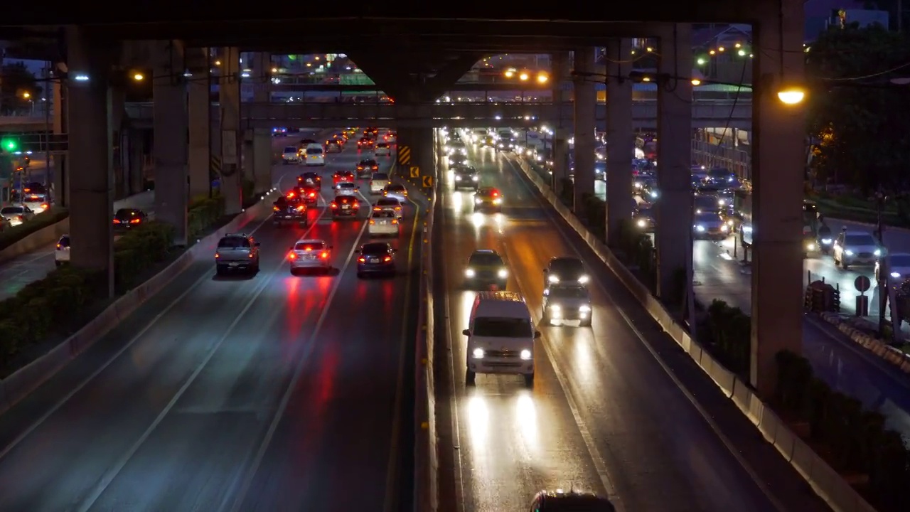
<path fill-rule="evenodd" d="M 69 119 L 70 213 L 73 266 L 101 271 L 106 292 L 114 294 L 114 177 L 111 154 L 109 78 L 111 42 L 99 41 L 77 26 L 66 27 Z M 77 79 L 87 78 L 87 79 Z"/>

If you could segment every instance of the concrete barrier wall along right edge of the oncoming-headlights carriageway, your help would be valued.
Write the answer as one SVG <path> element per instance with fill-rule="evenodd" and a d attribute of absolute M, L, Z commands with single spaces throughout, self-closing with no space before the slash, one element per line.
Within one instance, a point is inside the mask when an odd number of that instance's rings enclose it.
<path fill-rule="evenodd" d="M 541 196 L 550 202 L 553 210 L 561 216 L 562 220 L 581 237 L 594 251 L 601 261 L 615 274 L 623 285 L 632 292 L 632 295 L 642 303 L 655 322 L 661 325 L 673 341 L 678 343 L 682 350 L 688 353 L 693 361 L 698 364 L 705 374 L 711 377 L 715 384 L 740 411 L 749 418 L 753 425 L 762 433 L 765 440 L 773 444 L 784 459 L 794 466 L 806 482 L 812 486 L 815 494 L 824 499 L 829 507 L 836 512 L 873 512 L 875 508 L 869 505 L 856 490 L 850 486 L 842 476 L 829 466 L 821 457 L 816 455 L 809 445 L 790 430 L 790 427 L 774 414 L 772 408 L 764 404 L 754 394 L 752 388 L 737 376 L 723 367 L 702 345 L 695 342 L 685 328 L 677 323 L 672 314 L 663 307 L 648 289 L 635 278 L 622 261 L 619 261 L 610 249 L 591 233 L 581 221 L 569 210 L 543 181 L 540 174 L 528 165 L 523 159 L 518 159 L 519 168 L 527 178 L 540 191 Z"/>

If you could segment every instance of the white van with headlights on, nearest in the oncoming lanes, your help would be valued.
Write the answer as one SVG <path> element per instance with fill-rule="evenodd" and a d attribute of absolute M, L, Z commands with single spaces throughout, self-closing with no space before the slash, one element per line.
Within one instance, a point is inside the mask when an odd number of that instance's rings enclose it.
<path fill-rule="evenodd" d="M 476 374 L 521 374 L 534 384 L 534 329 L 531 312 L 519 292 L 480 292 L 470 308 L 465 383 Z"/>

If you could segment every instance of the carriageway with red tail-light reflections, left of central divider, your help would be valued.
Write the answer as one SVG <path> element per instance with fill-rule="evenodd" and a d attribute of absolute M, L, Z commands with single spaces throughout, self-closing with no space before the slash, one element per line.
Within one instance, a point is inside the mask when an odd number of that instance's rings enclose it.
<path fill-rule="evenodd" d="M 329 156 L 329 183 L 351 153 Z M 286 189 L 300 169 L 273 171 Z M 244 510 L 351 509 L 329 502 L 347 496 L 341 475 L 364 480 L 350 502 L 382 503 L 409 280 L 351 277 L 365 217 L 317 221 L 323 212 L 310 229 L 251 222 L 258 275 L 216 278 L 197 262 L 0 416 L 0 480 L 17 484 L 0 509 L 215 510 L 244 496 Z M 304 234 L 334 245 L 338 271 L 290 275 L 288 248 Z M 339 457 L 352 440 L 357 453 Z M 288 458 L 288 447 L 307 450 Z M 302 475 L 336 477 L 305 494 Z"/>

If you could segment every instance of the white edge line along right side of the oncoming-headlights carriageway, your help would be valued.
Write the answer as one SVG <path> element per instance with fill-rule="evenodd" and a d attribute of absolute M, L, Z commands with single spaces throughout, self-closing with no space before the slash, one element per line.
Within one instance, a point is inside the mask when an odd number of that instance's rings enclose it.
<path fill-rule="evenodd" d="M 541 209 L 546 213 L 547 217 L 550 218 L 553 228 L 560 234 L 562 241 L 565 242 L 565 244 L 571 249 L 572 252 L 575 253 L 576 256 L 578 256 L 581 260 L 583 260 L 583 258 L 581 258 L 581 252 L 578 251 L 578 249 L 575 247 L 575 244 L 569 239 L 569 236 L 562 230 L 558 220 L 552 214 L 551 205 L 549 203 L 545 203 L 539 197 L 538 194 L 534 193 L 534 190 L 531 189 L 531 186 L 528 185 L 528 183 L 526 182 L 527 177 L 524 176 L 524 171 L 515 169 L 515 164 L 511 159 L 507 159 L 507 161 L 509 162 L 509 167 L 511 168 L 512 172 L 515 173 L 516 175 L 518 175 L 518 180 L 521 183 L 521 186 L 524 189 L 527 189 L 529 191 L 529 193 L 531 193 L 531 197 L 533 197 L 534 200 L 537 201 L 537 203 L 541 205 Z M 612 272 L 612 270 L 609 267 L 607 268 L 607 270 Z M 723 434 L 723 431 L 721 430 L 720 426 L 718 426 L 714 422 L 711 415 L 709 415 L 708 412 L 704 410 L 702 404 L 698 403 L 695 396 L 689 391 L 688 388 L 685 387 L 685 385 L 682 384 L 682 381 L 680 381 L 679 378 L 676 377 L 676 374 L 673 374 L 672 369 L 666 363 L 663 362 L 660 355 L 651 346 L 651 343 L 648 343 L 648 341 L 645 340 L 642 332 L 639 331 L 637 327 L 635 327 L 635 324 L 632 323 L 632 319 L 625 312 L 625 310 L 622 308 L 622 306 L 620 306 L 619 303 L 617 303 L 613 300 L 612 296 L 610 295 L 610 292 L 607 291 L 606 286 L 604 286 L 603 283 L 598 279 L 595 279 L 592 281 L 597 283 L 597 287 L 601 289 L 601 292 L 603 293 L 603 296 L 606 299 L 606 301 L 612 305 L 613 309 L 616 312 L 618 312 L 620 314 L 620 316 L 622 316 L 622 321 L 624 323 L 626 323 L 626 325 L 629 326 L 629 329 L 632 331 L 632 333 L 635 334 L 635 337 L 637 337 L 639 339 L 639 341 L 642 342 L 642 345 L 648 351 L 648 353 L 651 353 L 651 356 L 654 359 L 654 361 L 656 361 L 657 364 L 659 364 L 661 366 L 663 373 L 666 374 L 670 378 L 672 383 L 675 384 L 677 389 L 679 389 L 680 392 L 682 393 L 682 395 L 685 396 L 686 400 L 688 400 L 688 402 L 690 404 L 692 404 L 693 408 L 698 412 L 698 414 L 702 416 L 702 419 L 704 420 L 705 424 L 707 424 L 708 427 L 713 431 L 714 435 L 717 436 L 717 438 L 718 438 L 718 440 L 720 440 L 721 444 L 727 449 L 727 451 L 730 453 L 730 455 L 733 456 L 733 459 L 736 460 L 737 463 L 739 463 L 739 465 L 743 468 L 743 471 L 745 471 L 746 475 L 748 475 L 753 480 L 753 484 L 760 491 L 762 491 L 762 494 L 764 495 L 764 497 L 767 498 L 767 500 L 772 504 L 772 506 L 775 509 L 777 509 L 780 512 L 784 512 L 786 510 L 786 507 L 784 507 L 784 505 L 780 501 L 778 501 L 777 497 L 774 497 L 771 494 L 771 491 L 764 485 L 762 479 L 758 476 L 757 473 L 755 473 L 753 467 L 748 464 L 748 462 L 743 458 L 742 455 L 740 455 L 740 452 L 733 445 L 733 442 L 731 442 L 730 439 L 726 435 Z M 544 348 L 545 348 L 545 350 L 548 350 L 548 355 L 549 355 L 550 354 L 549 349 L 546 349 L 546 347 L 544 347 Z M 551 363 L 553 364 L 553 368 L 555 369 L 556 362 L 552 359 L 552 357 L 551 357 Z M 559 378 L 558 375 L 557 375 L 557 378 Z M 566 389 L 565 386 L 563 386 L 563 392 L 566 393 L 567 395 L 569 394 L 569 390 Z M 573 410 L 572 414 L 574 414 L 574 410 Z M 579 424 L 579 427 L 581 428 L 581 424 Z M 585 441 L 585 443 L 587 443 L 587 441 Z M 595 449 L 596 449 L 596 447 L 595 447 Z"/>

